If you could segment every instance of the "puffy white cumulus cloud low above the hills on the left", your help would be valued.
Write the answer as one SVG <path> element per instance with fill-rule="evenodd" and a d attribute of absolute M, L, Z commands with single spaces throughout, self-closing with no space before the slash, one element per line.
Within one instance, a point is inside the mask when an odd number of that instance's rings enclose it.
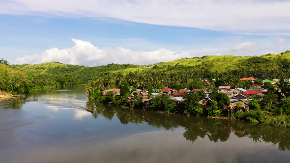
<path fill-rule="evenodd" d="M 66 64 L 87 66 L 98 66 L 108 63 L 143 65 L 189 57 L 187 52 L 173 52 L 166 49 L 142 52 L 135 52 L 120 47 L 99 49 L 87 41 L 77 39 L 72 39 L 72 41 L 74 46 L 71 48 L 52 48 L 44 51 L 43 54 L 25 55 L 17 58 L 14 63 L 37 64 L 58 61 Z"/>

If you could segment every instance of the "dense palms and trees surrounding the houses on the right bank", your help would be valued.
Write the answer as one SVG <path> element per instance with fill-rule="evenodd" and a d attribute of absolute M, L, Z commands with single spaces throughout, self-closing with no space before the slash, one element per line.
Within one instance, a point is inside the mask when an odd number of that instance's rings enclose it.
<path fill-rule="evenodd" d="M 278 54 L 288 58 L 290 53 Z M 184 96 L 186 99 L 185 105 L 176 105 L 170 99 L 170 96 L 162 95 L 153 98 L 150 101 L 150 109 L 173 112 L 187 115 L 211 116 L 220 117 L 227 116 L 228 112 L 225 107 L 230 104 L 229 97 L 226 94 L 218 93 L 216 87 L 220 85 L 230 86 L 231 88 L 250 88 L 252 82 L 240 81 L 242 77 L 254 77 L 260 79 L 255 83 L 263 85 L 263 79 L 279 79 L 276 85 L 271 85 L 265 82 L 264 87 L 269 89 L 267 95 L 263 98 L 253 97 L 250 102 L 250 111 L 235 113 L 237 119 L 244 119 L 251 122 L 263 122 L 278 126 L 290 126 L 290 62 L 286 58 L 277 57 L 278 55 L 267 54 L 261 57 L 246 57 L 242 60 L 242 64 L 247 66 L 244 69 L 242 66 L 236 66 L 235 69 L 223 72 L 213 72 L 211 68 L 204 68 L 204 64 L 196 66 L 187 66 L 176 64 L 174 66 L 164 66 L 163 63 L 154 65 L 150 69 L 143 71 L 129 72 L 126 75 L 119 73 L 102 74 L 93 78 L 86 84 L 86 90 L 90 98 L 99 99 L 101 102 L 112 102 L 117 106 L 126 105 L 129 94 L 121 95 L 113 98 L 113 93 L 101 96 L 101 91 L 112 87 L 120 87 L 121 91 L 124 87 L 132 92 L 136 89 L 145 89 L 149 93 L 157 92 L 163 87 L 171 87 L 178 89 L 207 89 L 211 93 L 209 97 L 209 107 L 206 109 L 200 108 L 198 102 L 205 98 L 202 91 L 189 92 Z M 215 57 L 215 56 L 214 56 Z M 228 56 L 225 56 L 227 58 Z M 273 58 L 271 58 L 273 57 Z M 204 58 L 209 58 L 206 56 Z M 242 57 L 241 57 L 242 58 Z M 203 58 L 201 58 L 202 60 Z M 268 66 L 265 66 L 268 65 Z M 204 82 L 206 81 L 206 82 Z M 136 96 L 136 94 L 135 94 Z M 137 96 L 135 106 L 140 106 L 141 100 Z"/>

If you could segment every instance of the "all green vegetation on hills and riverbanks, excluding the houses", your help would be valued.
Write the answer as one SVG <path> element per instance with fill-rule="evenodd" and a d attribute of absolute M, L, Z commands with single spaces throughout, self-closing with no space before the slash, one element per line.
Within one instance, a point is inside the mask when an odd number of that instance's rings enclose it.
<path fill-rule="evenodd" d="M 271 123 L 280 126 L 290 126 L 290 52 L 281 54 L 265 54 L 262 56 L 203 56 L 184 58 L 173 62 L 158 63 L 148 66 L 131 64 L 108 64 L 106 66 L 86 67 L 66 65 L 58 62 L 35 65 L 9 65 L 0 60 L 0 89 L 13 94 L 27 93 L 33 89 L 86 83 L 88 96 L 102 102 L 112 102 L 117 106 L 127 104 L 129 89 L 145 89 L 149 93 L 157 92 L 163 87 L 176 90 L 208 89 L 212 90 L 209 107 L 201 109 L 197 103 L 204 98 L 201 92 L 188 93 L 184 98 L 184 106 L 176 105 L 169 96 L 158 96 L 151 100 L 150 109 L 165 112 L 197 116 L 224 116 L 222 111 L 229 100 L 225 95 L 216 92 L 220 85 L 231 88 L 248 89 L 251 82 L 240 81 L 243 77 L 259 79 L 280 79 L 276 86 L 269 87 L 270 92 L 259 100 L 250 103 L 249 113 L 236 112 L 237 119 L 252 122 Z M 206 82 L 205 82 L 206 81 Z M 121 96 L 113 98 L 112 93 L 101 95 L 102 90 L 112 87 L 121 88 Z M 136 96 L 138 107 L 142 101 Z"/>

